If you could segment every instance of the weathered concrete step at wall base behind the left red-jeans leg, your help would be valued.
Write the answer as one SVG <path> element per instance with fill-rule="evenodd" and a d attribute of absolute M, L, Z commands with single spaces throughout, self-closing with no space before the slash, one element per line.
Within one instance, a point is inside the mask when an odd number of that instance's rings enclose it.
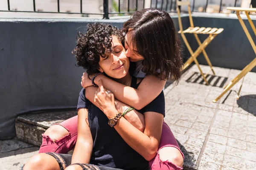
<path fill-rule="evenodd" d="M 18 116 L 15 120 L 17 138 L 23 142 L 40 146 L 42 133 L 45 130 L 76 115 L 77 111 L 54 111 Z"/>

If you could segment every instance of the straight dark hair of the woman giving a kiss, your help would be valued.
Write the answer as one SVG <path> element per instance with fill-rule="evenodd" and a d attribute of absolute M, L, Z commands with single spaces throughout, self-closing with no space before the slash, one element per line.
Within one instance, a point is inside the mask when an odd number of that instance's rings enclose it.
<path fill-rule="evenodd" d="M 179 82 L 183 65 L 180 41 L 166 11 L 155 8 L 136 11 L 124 23 L 123 29 L 125 33 L 129 31 L 134 52 L 144 57 L 143 72 Z"/>

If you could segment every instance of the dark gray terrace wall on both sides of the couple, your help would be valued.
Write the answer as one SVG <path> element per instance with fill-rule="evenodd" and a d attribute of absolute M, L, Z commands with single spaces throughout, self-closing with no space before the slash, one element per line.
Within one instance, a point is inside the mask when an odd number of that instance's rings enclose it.
<path fill-rule="evenodd" d="M 178 29 L 177 17 L 173 19 Z M 195 26 L 225 29 L 206 48 L 212 65 L 242 69 L 255 57 L 236 18 L 194 15 L 193 19 Z M 91 22 L 107 22 L 121 28 L 125 20 L 0 19 L 0 139 L 15 136 L 15 118 L 22 113 L 76 108 L 84 72 L 75 67 L 71 54 L 77 32 L 84 31 Z M 184 28 L 188 22 L 184 15 Z M 195 50 L 195 38 L 187 37 Z M 185 46 L 183 54 L 185 59 L 190 56 Z M 202 56 L 198 61 L 206 64 Z"/>

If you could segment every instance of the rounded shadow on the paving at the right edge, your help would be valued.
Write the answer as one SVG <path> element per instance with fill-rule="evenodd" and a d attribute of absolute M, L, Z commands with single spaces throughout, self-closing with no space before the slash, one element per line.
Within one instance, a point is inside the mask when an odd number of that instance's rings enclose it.
<path fill-rule="evenodd" d="M 240 108 L 244 109 L 244 111 L 247 111 L 254 116 L 256 116 L 256 95 L 250 94 L 245 96 L 240 96 L 237 100 L 237 105 L 239 105 Z"/>

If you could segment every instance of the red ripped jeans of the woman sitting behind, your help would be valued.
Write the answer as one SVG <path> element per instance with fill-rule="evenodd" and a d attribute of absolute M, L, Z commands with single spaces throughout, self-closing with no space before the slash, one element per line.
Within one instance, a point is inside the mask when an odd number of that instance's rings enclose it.
<path fill-rule="evenodd" d="M 52 141 L 49 136 L 42 134 L 43 142 L 40 147 L 39 153 L 47 153 L 47 152 L 55 152 L 55 153 L 68 153 L 75 147 L 76 139 L 77 139 L 77 116 L 74 116 L 70 119 L 61 122 L 60 124 L 62 127 L 67 129 L 69 132 L 68 135 L 64 136 L 62 139 L 58 141 Z M 170 127 L 163 122 L 162 128 L 162 136 L 160 140 L 159 149 L 163 147 L 175 147 L 180 150 L 180 147 L 172 134 Z M 183 153 L 180 151 L 183 156 Z M 161 161 L 159 158 L 159 153 L 157 151 L 157 155 L 149 161 L 149 165 L 151 170 L 182 170 L 182 167 L 178 167 L 174 163 L 170 161 Z"/>

